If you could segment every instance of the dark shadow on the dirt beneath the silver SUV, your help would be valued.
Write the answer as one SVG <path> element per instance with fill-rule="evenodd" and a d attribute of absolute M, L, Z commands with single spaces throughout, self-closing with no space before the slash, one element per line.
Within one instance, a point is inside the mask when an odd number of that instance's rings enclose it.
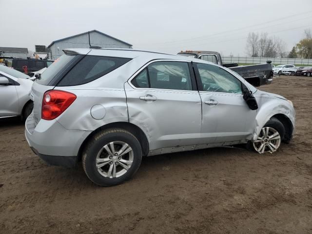
<path fill-rule="evenodd" d="M 125 186 L 125 188 L 128 188 L 128 186 L 135 186 L 137 183 L 141 185 L 145 183 L 150 184 L 157 180 L 156 177 L 159 174 L 164 174 L 165 176 L 170 177 L 171 175 L 178 173 L 178 171 L 189 171 L 190 168 L 188 165 L 192 164 L 192 167 L 196 168 L 196 166 L 198 166 L 206 168 L 204 170 L 209 171 L 215 163 L 225 160 L 233 160 L 234 157 L 244 156 L 259 155 L 246 149 L 219 147 L 143 157 L 140 168 L 133 178 L 123 184 L 113 187 Z M 44 165 L 37 169 L 37 172 L 41 174 L 41 176 L 37 178 L 37 181 L 41 180 L 39 183 L 45 183 L 45 181 L 48 181 L 50 188 L 52 189 L 55 188 L 61 191 L 67 191 L 81 187 L 83 187 L 84 190 L 93 190 L 95 188 L 106 188 L 107 190 L 110 190 L 110 188 L 113 188 L 100 187 L 90 181 L 83 171 L 81 162 L 79 162 L 75 168 L 68 169 L 59 166 L 49 166 L 41 159 L 38 158 L 38 160 Z M 39 172 L 39 170 L 42 171 Z"/>

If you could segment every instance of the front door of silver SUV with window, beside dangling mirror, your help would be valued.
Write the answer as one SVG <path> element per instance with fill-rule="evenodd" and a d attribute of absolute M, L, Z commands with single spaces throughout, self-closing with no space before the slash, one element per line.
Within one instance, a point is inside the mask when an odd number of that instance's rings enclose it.
<path fill-rule="evenodd" d="M 215 143 L 239 143 L 253 134 L 256 111 L 243 99 L 240 80 L 219 66 L 194 63 L 194 68 L 202 99 L 202 135 L 215 137 Z"/>

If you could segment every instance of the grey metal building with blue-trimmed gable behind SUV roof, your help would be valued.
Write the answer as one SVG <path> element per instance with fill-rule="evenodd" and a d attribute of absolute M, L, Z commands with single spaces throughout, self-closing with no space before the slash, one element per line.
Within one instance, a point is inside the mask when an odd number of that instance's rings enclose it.
<path fill-rule="evenodd" d="M 92 30 L 90 32 L 52 41 L 47 47 L 51 59 L 58 59 L 63 55 L 63 49 L 89 48 L 89 33 L 92 46 L 100 46 L 102 48 L 132 48 L 132 44 L 99 32 L 98 30 Z"/>

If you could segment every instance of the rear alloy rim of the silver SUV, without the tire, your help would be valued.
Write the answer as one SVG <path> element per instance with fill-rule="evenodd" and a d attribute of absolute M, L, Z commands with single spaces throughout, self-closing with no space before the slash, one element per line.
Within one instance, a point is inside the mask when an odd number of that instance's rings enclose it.
<path fill-rule="evenodd" d="M 117 178 L 130 169 L 134 159 L 132 148 L 123 141 L 112 141 L 98 152 L 96 167 L 102 176 Z"/>

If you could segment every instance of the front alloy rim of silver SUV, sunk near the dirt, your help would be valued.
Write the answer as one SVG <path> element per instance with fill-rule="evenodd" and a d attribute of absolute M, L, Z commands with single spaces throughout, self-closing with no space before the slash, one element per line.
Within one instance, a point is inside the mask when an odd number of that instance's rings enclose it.
<path fill-rule="evenodd" d="M 281 143 L 281 137 L 279 133 L 271 127 L 264 127 L 257 139 L 253 142 L 254 149 L 259 154 L 265 152 L 274 153 Z"/>

